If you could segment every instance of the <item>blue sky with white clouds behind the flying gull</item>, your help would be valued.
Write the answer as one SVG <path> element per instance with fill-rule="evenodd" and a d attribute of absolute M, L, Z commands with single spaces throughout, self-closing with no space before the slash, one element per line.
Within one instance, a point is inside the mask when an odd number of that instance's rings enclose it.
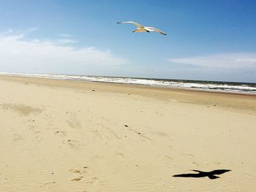
<path fill-rule="evenodd" d="M 256 1 L 0 4 L 0 72 L 256 82 Z"/>

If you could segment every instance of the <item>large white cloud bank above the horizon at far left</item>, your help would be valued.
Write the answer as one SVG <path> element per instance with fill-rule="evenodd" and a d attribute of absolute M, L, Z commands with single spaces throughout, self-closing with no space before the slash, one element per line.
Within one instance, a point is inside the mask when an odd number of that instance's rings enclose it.
<path fill-rule="evenodd" d="M 26 34 L 34 30 L 37 28 L 29 28 L 24 34 L 13 30 L 0 34 L 0 72 L 35 72 L 34 69 L 38 69 L 38 72 L 48 73 L 90 74 L 128 62 L 109 50 L 70 46 L 77 42 L 70 38 L 26 39 Z"/>

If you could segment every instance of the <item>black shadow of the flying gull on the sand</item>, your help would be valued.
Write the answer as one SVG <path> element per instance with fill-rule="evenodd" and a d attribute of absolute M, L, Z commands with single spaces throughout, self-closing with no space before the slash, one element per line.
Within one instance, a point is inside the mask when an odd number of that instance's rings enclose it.
<path fill-rule="evenodd" d="M 208 177 L 211 180 L 215 180 L 217 178 L 219 178 L 218 176 L 216 176 L 215 174 L 223 174 L 225 172 L 230 172 L 231 170 L 228 169 L 217 169 L 211 172 L 201 172 L 199 170 L 192 170 L 193 172 L 197 172 L 197 173 L 189 173 L 189 174 L 176 174 L 173 175 L 173 177 Z"/>

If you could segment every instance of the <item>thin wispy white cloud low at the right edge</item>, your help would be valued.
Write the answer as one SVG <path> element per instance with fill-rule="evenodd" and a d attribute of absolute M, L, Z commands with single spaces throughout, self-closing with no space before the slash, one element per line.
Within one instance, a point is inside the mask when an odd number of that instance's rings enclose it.
<path fill-rule="evenodd" d="M 174 64 L 189 64 L 210 69 L 256 68 L 256 53 L 223 53 L 189 58 L 170 58 Z"/>

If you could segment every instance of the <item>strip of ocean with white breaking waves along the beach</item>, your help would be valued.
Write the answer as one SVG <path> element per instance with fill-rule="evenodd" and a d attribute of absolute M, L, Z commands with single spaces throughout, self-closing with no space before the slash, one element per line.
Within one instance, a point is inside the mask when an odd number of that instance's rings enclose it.
<path fill-rule="evenodd" d="M 78 80 L 91 82 L 116 82 L 124 84 L 151 85 L 165 88 L 186 88 L 203 91 L 221 91 L 227 93 L 256 94 L 256 83 L 252 82 L 221 82 L 203 80 L 171 80 L 136 77 L 106 77 L 87 76 L 75 74 L 24 74 L 24 73 L 0 73 L 7 75 L 20 75 L 25 77 L 44 77 L 59 80 Z"/>

